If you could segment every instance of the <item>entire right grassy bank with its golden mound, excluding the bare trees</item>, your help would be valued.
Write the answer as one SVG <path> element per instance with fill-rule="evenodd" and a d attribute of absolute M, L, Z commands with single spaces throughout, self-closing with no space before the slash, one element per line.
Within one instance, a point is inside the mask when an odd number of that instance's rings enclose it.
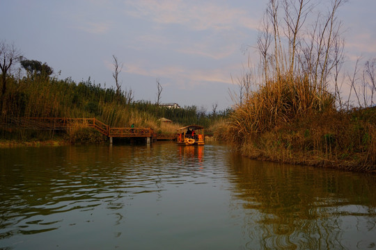
<path fill-rule="evenodd" d="M 254 159 L 376 172 L 376 108 L 338 110 L 329 92 L 286 79 L 251 92 L 214 135 Z"/>

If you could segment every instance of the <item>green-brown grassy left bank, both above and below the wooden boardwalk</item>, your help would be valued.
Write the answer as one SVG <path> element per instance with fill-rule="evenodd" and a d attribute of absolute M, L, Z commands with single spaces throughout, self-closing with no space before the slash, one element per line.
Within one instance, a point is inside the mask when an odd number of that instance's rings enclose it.
<path fill-rule="evenodd" d="M 61 135 L 57 131 L 33 131 L 8 128 L 12 119 L 20 117 L 71 117 L 99 119 L 111 127 L 150 127 L 157 133 L 176 133 L 188 124 L 210 126 L 227 112 L 208 115 L 196 106 L 166 108 L 150 101 L 134 101 L 132 91 L 116 92 L 88 81 L 75 83 L 70 78 L 41 75 L 8 75 L 7 92 L 1 96 L 0 138 L 4 145 L 42 144 L 56 140 L 64 142 L 100 143 L 106 140 L 100 133 L 80 126 L 70 128 Z M 172 123 L 160 122 L 165 117 Z M 1 125 L 3 124 L 3 125 Z M 5 141 L 7 141 L 5 143 Z M 52 143 L 54 144 L 54 143 Z"/>

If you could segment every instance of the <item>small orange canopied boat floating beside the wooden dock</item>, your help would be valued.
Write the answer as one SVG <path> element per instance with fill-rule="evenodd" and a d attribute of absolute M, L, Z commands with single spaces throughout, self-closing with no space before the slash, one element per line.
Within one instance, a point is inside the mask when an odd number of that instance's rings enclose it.
<path fill-rule="evenodd" d="M 203 145 L 204 133 L 203 127 L 198 125 L 189 125 L 178 129 L 179 145 Z"/>

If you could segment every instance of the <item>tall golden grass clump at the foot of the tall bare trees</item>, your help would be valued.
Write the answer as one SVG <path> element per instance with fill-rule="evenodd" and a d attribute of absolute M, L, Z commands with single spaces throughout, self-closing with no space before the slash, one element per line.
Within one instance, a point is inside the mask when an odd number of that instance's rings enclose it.
<path fill-rule="evenodd" d="M 334 108 L 334 97 L 313 88 L 307 78 L 285 76 L 254 87 L 256 91 L 250 92 L 244 103 L 235 105 L 231 116 L 240 138 L 269 131 L 314 111 Z"/>

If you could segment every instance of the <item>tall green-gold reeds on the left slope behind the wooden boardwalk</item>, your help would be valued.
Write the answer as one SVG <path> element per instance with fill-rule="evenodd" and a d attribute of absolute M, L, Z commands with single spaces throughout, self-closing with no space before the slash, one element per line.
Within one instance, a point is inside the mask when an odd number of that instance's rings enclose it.
<path fill-rule="evenodd" d="M 0 124 L 7 124 L 10 119 L 17 117 L 95 117 L 112 127 L 130 127 L 134 124 L 137 127 L 176 132 L 173 126 L 161 126 L 157 121 L 159 117 L 147 110 L 134 108 L 127 101 L 118 101 L 114 91 L 97 88 L 90 83 L 77 85 L 69 79 L 10 76 L 3 103 Z M 81 129 L 79 125 L 73 126 L 68 135 L 75 140 L 73 135 Z M 17 134 L 27 138 L 28 131 L 21 129 Z"/>

